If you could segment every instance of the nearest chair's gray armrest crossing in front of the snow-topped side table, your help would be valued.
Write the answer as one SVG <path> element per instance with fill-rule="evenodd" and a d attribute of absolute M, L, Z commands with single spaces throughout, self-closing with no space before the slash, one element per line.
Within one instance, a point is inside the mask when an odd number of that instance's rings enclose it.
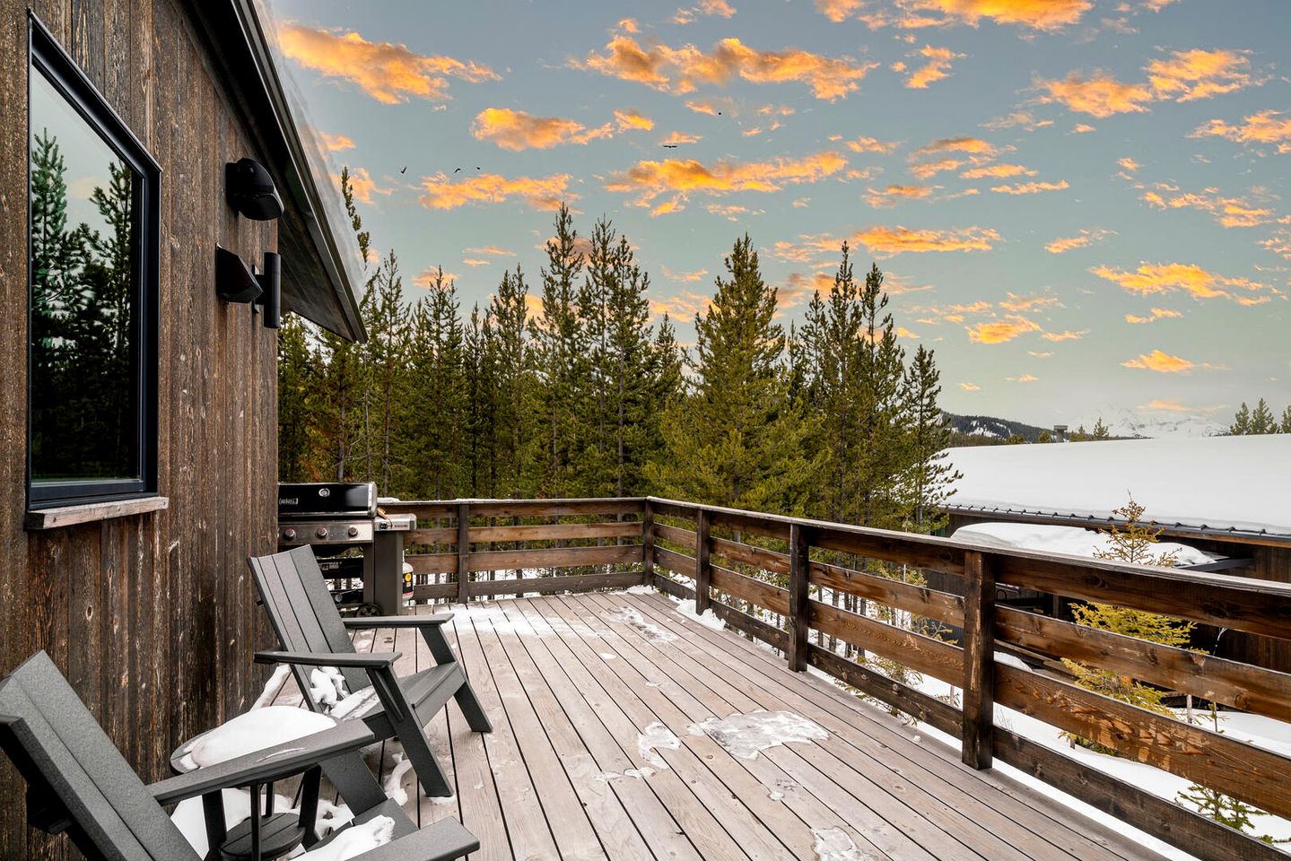
<path fill-rule="evenodd" d="M 325 759 L 361 750 L 374 741 L 377 737 L 361 720 L 346 720 L 332 729 L 151 784 L 148 791 L 158 804 L 174 804 L 221 789 L 266 784 L 300 775 Z"/>

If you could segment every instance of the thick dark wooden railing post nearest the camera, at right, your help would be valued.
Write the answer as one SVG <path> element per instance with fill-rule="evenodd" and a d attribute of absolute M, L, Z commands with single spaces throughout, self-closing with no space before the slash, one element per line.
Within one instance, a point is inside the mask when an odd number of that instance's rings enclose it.
<path fill-rule="evenodd" d="M 964 697 L 966 765 L 990 768 L 995 738 L 995 572 L 976 550 L 964 552 Z"/>

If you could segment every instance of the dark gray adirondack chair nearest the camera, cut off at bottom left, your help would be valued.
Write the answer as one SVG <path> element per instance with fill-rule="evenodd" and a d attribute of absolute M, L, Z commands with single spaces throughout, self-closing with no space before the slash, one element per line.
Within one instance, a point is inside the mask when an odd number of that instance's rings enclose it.
<path fill-rule="evenodd" d="M 365 727 L 341 724 L 145 786 L 48 654 L 37 652 L 0 682 L 0 747 L 27 782 L 28 822 L 50 834 L 66 831 L 90 861 L 199 861 L 164 805 L 298 775 L 328 758 L 358 755 L 367 742 Z M 355 824 L 376 816 L 395 821 L 395 836 L 356 856 L 361 861 L 452 861 L 479 848 L 457 820 L 418 831 L 389 799 L 359 813 Z"/>

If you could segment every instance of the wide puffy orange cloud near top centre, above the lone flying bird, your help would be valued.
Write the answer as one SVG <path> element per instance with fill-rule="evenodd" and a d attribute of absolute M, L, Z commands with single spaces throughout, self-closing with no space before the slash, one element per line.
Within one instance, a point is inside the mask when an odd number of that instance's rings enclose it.
<path fill-rule="evenodd" d="M 695 45 L 642 45 L 626 35 L 615 36 L 605 53 L 593 52 L 585 59 L 571 59 L 569 65 L 667 93 L 692 93 L 700 84 L 726 85 L 741 77 L 754 84 L 806 84 L 816 98 L 828 101 L 859 89 L 860 81 L 878 66 L 806 50 L 758 50 L 733 37 L 723 39 L 705 53 Z"/>

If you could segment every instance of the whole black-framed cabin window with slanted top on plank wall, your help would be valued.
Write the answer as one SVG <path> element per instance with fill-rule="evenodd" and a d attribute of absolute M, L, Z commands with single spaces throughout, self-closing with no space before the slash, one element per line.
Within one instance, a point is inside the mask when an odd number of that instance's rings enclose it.
<path fill-rule="evenodd" d="M 156 492 L 160 169 L 32 19 L 28 503 Z"/>

